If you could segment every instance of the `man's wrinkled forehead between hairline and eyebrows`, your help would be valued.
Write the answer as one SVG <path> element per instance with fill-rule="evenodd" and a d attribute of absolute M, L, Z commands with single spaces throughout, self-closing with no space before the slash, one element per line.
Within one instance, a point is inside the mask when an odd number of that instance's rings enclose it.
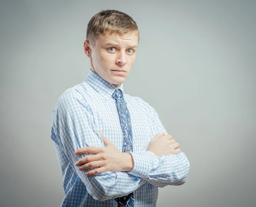
<path fill-rule="evenodd" d="M 124 45 L 129 44 L 133 46 L 138 46 L 139 37 L 137 32 L 129 32 L 125 34 L 117 34 L 117 33 L 101 33 L 99 34 L 96 45 Z"/>

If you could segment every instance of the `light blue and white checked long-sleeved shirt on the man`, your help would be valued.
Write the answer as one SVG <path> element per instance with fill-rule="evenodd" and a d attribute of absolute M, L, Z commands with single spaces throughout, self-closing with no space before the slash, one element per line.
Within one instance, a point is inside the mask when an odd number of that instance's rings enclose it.
<path fill-rule="evenodd" d="M 51 139 L 61 166 L 64 199 L 62 207 L 117 207 L 115 199 L 134 192 L 135 207 L 155 207 L 158 187 L 181 185 L 189 173 L 189 161 L 183 152 L 154 155 L 146 151 L 156 135 L 165 132 L 156 110 L 142 98 L 118 89 L 127 104 L 133 133 L 134 168 L 131 172 L 105 172 L 86 176 L 92 169 L 80 171 L 75 163 L 93 153 L 76 155 L 75 150 L 105 147 L 98 132 L 122 152 L 122 128 L 116 101 L 116 87 L 91 69 L 80 84 L 64 91 L 52 111 Z M 96 168 L 93 168 L 96 169 Z"/>

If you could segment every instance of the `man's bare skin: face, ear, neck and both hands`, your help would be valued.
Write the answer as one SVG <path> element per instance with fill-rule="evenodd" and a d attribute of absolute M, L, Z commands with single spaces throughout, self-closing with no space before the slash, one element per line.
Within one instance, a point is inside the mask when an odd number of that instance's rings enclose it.
<path fill-rule="evenodd" d="M 90 66 L 104 80 L 112 83 L 116 88 L 131 72 L 136 58 L 139 38 L 134 32 L 124 35 L 99 34 L 95 46 L 90 45 L 88 40 L 84 41 L 84 52 L 90 59 Z M 117 72 L 116 70 L 122 71 Z M 75 151 L 75 154 L 92 152 L 95 155 L 88 155 L 76 162 L 79 170 L 86 170 L 92 167 L 99 167 L 86 173 L 87 176 L 97 175 L 107 171 L 130 172 L 134 167 L 131 154 L 120 152 L 116 146 L 105 138 L 99 131 L 106 147 L 84 147 Z M 172 138 L 172 135 L 157 134 L 150 141 L 147 151 L 155 155 L 170 155 L 181 152 L 179 143 Z"/>

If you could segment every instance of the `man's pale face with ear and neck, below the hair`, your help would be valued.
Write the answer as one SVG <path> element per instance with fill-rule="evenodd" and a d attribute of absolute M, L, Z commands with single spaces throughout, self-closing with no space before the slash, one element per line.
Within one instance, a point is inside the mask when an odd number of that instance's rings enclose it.
<path fill-rule="evenodd" d="M 138 41 L 136 33 L 100 34 L 94 47 L 84 41 L 84 52 L 90 58 L 91 69 L 118 88 L 134 64 Z"/>

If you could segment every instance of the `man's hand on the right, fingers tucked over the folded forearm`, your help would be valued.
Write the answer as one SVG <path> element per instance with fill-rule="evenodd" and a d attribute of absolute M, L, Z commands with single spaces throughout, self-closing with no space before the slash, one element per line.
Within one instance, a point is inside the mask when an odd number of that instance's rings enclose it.
<path fill-rule="evenodd" d="M 164 134 L 155 135 L 148 144 L 147 151 L 151 151 L 157 156 L 180 153 L 180 144 L 172 138 L 172 135 Z"/>

